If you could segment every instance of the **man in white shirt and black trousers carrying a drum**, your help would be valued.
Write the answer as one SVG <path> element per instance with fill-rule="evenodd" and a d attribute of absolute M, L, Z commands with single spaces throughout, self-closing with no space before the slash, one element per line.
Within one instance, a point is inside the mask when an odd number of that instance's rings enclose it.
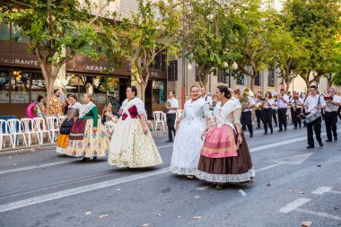
<path fill-rule="evenodd" d="M 326 109 L 326 101 L 323 97 L 319 96 L 317 87 L 315 85 L 310 86 L 310 96 L 304 101 L 304 108 L 306 113 L 310 114 L 313 111 L 321 111 L 321 109 Z M 314 148 L 314 138 L 313 130 L 315 131 L 316 140 L 319 142 L 319 146 L 323 146 L 321 139 L 321 117 L 316 118 L 307 124 L 308 133 L 308 146 L 307 149 Z"/>

